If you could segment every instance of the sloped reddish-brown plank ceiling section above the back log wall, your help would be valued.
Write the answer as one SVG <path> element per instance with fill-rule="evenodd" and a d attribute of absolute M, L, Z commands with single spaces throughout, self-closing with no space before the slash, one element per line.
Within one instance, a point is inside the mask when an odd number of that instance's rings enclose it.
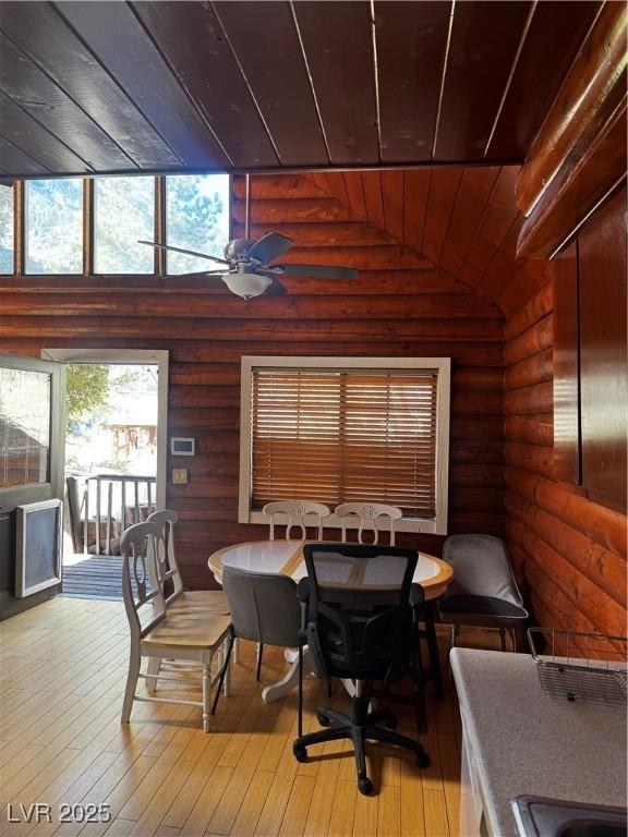
<path fill-rule="evenodd" d="M 354 220 L 385 230 L 392 243 L 502 305 L 523 266 L 515 255 L 522 222 L 515 202 L 518 172 L 518 166 L 451 166 L 301 177 L 347 206 Z M 274 187 L 271 175 L 252 179 L 253 194 Z"/>

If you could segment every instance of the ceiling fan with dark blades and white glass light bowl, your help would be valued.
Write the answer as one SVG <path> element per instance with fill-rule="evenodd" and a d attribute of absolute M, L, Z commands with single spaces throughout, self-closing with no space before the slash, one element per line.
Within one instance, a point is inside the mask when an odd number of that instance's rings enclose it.
<path fill-rule="evenodd" d="M 314 279 L 354 279 L 358 270 L 353 267 L 333 267 L 324 265 L 276 265 L 273 259 L 286 253 L 294 243 L 287 235 L 278 232 L 267 232 L 261 239 L 249 238 L 250 226 L 250 184 L 246 175 L 246 222 L 245 238 L 233 239 L 225 247 L 225 258 L 210 256 L 206 253 L 197 253 L 193 250 L 182 250 L 170 244 L 157 244 L 154 241 L 140 241 L 140 244 L 148 244 L 159 250 L 170 250 L 174 253 L 184 253 L 189 256 L 207 258 L 217 262 L 224 267 L 216 270 L 204 271 L 204 276 L 217 277 L 225 282 L 231 293 L 250 300 L 266 293 L 269 296 L 278 296 L 286 293 L 286 288 L 279 281 L 279 277 L 309 276 Z M 197 275 L 197 274 L 195 274 Z"/>

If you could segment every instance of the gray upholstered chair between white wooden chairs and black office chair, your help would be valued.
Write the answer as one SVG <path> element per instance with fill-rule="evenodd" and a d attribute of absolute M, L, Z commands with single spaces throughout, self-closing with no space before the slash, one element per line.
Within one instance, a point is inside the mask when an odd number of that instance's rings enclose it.
<path fill-rule="evenodd" d="M 297 584 L 289 575 L 222 568 L 222 589 L 231 611 L 231 639 L 227 647 L 214 708 L 222 688 L 234 640 L 252 640 L 264 645 L 299 648 L 302 653 L 301 606 Z M 257 658 L 257 680 L 262 655 Z"/>

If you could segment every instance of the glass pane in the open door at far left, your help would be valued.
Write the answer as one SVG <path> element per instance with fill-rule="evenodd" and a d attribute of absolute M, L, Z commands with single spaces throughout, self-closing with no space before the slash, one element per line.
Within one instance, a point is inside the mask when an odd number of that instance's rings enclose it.
<path fill-rule="evenodd" d="M 50 377 L 0 368 L 0 488 L 48 480 Z"/>

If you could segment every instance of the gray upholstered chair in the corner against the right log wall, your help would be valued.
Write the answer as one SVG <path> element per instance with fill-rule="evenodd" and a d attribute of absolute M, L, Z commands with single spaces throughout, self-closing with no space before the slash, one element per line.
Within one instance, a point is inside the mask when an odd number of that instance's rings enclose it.
<path fill-rule="evenodd" d="M 504 542 L 493 535 L 451 535 L 445 542 L 443 560 L 454 568 L 454 580 L 438 599 L 438 616 L 451 624 L 451 647 L 460 626 L 497 628 L 502 650 L 506 651 L 506 631 L 512 631 L 517 648 L 517 629 L 528 618 L 523 598 L 512 575 Z"/>

